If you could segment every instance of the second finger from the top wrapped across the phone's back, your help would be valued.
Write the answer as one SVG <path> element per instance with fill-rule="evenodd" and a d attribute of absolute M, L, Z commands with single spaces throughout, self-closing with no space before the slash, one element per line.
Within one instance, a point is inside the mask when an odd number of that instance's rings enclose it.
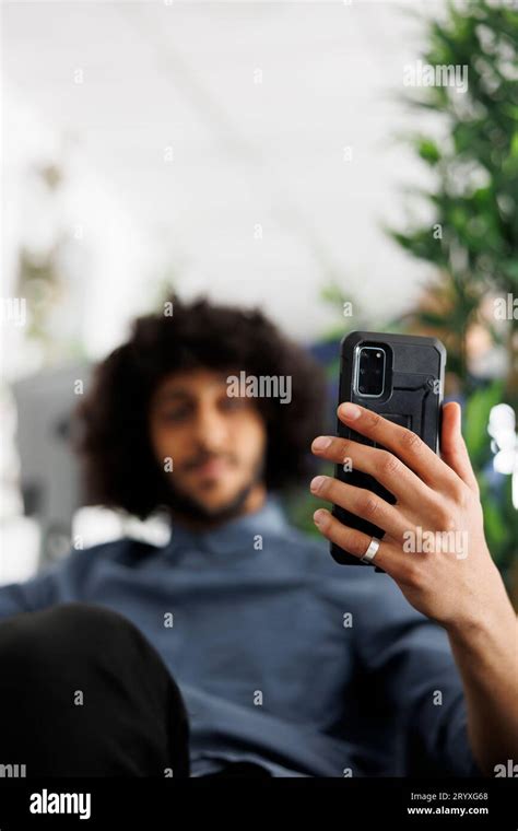
<path fill-rule="evenodd" d="M 431 496 L 431 489 L 388 450 L 338 436 L 318 436 L 311 445 L 311 450 L 338 465 L 350 461 L 352 469 L 373 476 L 399 502 L 422 503 Z"/>

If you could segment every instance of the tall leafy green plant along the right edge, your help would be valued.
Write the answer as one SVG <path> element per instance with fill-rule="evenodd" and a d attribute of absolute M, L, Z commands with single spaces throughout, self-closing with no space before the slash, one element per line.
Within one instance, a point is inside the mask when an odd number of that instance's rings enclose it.
<path fill-rule="evenodd" d="M 466 67 L 459 93 L 447 84 L 412 90 L 412 107 L 439 115 L 445 138 L 410 138 L 433 173 L 434 185 L 415 196 L 431 223 L 392 238 L 435 267 L 436 281 L 423 302 L 402 318 L 413 331 L 435 333 L 448 348 L 450 390 L 464 401 L 464 433 L 479 478 L 492 554 L 518 599 L 518 512 L 510 477 L 495 488 L 487 434 L 491 408 L 518 403 L 518 11 L 488 0 L 448 3 L 446 15 L 427 26 L 422 60 Z M 507 316 L 496 304 L 507 301 Z M 484 331 L 505 350 L 502 379 L 470 372 L 470 342 Z"/>

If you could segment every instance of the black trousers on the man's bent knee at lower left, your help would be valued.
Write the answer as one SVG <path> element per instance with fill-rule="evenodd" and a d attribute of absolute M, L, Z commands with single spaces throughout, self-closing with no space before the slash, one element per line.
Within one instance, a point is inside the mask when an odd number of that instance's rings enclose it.
<path fill-rule="evenodd" d="M 0 765 L 4 776 L 187 777 L 181 693 L 118 612 L 71 602 L 15 615 L 0 622 Z M 234 763 L 210 775 L 264 774 Z"/>

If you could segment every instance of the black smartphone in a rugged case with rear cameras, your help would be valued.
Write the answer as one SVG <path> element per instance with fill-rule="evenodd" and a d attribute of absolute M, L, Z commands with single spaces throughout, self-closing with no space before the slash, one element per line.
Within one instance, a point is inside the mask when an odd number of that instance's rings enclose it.
<path fill-rule="evenodd" d="M 445 366 L 446 349 L 436 338 L 353 331 L 340 343 L 339 403 L 353 401 L 378 412 L 385 419 L 413 430 L 438 453 Z M 337 432 L 342 438 L 376 446 L 340 420 Z M 337 465 L 337 479 L 366 488 L 395 504 L 395 496 L 376 479 L 350 467 L 346 463 Z M 385 531 L 366 519 L 338 505 L 333 506 L 332 514 L 367 537 L 382 539 Z M 330 550 L 332 558 L 342 565 L 370 565 L 334 542 L 331 542 Z M 382 571 L 374 562 L 372 566 Z"/>

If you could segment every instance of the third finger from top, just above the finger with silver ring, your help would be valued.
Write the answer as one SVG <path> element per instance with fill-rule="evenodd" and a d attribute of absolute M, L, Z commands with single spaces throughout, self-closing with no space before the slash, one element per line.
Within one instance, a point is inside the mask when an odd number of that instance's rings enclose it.
<path fill-rule="evenodd" d="M 396 540 L 401 541 L 409 529 L 408 520 L 398 508 L 366 488 L 355 488 L 329 476 L 316 476 L 309 487 L 315 495 L 367 519 Z"/>

